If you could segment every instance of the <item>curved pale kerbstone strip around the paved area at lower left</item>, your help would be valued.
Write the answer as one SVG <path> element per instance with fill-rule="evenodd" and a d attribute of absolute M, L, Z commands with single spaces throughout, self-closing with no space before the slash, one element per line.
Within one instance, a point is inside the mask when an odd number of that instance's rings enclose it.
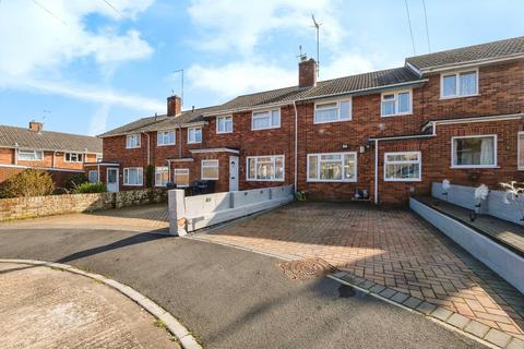
<path fill-rule="evenodd" d="M 91 279 L 104 282 L 105 285 L 111 287 L 112 289 L 116 289 L 123 296 L 128 297 L 133 302 L 138 303 L 140 306 L 145 309 L 154 317 L 160 320 L 166 325 L 166 328 L 169 330 L 169 333 L 178 339 L 178 341 L 180 342 L 180 346 L 183 349 L 202 349 L 202 346 L 196 341 L 196 339 L 191 335 L 191 333 L 175 316 L 172 316 L 169 312 L 164 310 L 162 306 L 159 306 L 154 301 L 143 296 L 139 291 L 117 280 L 107 278 L 100 274 L 84 272 L 74 266 L 71 266 L 68 264 L 61 264 L 61 263 L 34 261 L 34 260 L 4 260 L 4 258 L 0 258 L 0 263 L 17 263 L 17 264 L 28 264 L 28 265 L 35 265 L 35 266 L 47 266 L 47 267 L 58 268 L 60 270 L 82 275 Z"/>

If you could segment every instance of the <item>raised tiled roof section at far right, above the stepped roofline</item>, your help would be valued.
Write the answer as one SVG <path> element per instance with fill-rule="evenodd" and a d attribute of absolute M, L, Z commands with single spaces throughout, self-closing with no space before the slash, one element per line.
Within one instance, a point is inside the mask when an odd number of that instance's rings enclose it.
<path fill-rule="evenodd" d="M 420 70 L 524 53 L 524 36 L 448 51 L 409 57 L 406 61 Z"/>

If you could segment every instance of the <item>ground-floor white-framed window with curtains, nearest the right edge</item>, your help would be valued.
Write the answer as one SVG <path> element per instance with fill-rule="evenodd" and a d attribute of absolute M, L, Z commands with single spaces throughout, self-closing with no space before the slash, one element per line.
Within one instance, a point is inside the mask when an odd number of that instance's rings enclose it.
<path fill-rule="evenodd" d="M 451 139 L 452 168 L 497 167 L 497 135 L 467 135 Z"/>

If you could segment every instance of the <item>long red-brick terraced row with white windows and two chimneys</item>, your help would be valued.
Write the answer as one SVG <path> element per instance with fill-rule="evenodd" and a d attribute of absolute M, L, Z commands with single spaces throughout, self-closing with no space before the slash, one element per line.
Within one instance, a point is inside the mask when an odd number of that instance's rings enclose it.
<path fill-rule="evenodd" d="M 404 67 L 140 119 L 100 137 L 111 190 L 215 181 L 216 191 L 294 184 L 318 200 L 405 203 L 431 182 L 524 180 L 524 37 L 410 57 Z M 249 79 L 247 76 L 246 79 Z"/>

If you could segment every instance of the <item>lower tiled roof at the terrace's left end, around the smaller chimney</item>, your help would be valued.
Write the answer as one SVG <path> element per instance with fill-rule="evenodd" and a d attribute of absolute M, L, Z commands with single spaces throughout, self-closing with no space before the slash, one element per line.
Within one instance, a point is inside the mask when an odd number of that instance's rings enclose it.
<path fill-rule="evenodd" d="M 151 132 L 151 131 L 165 130 L 170 128 L 178 128 L 181 125 L 191 124 L 195 122 L 202 122 L 202 121 L 205 121 L 203 118 L 203 113 L 212 111 L 214 108 L 217 108 L 217 107 L 184 110 L 179 116 L 176 116 L 176 117 L 168 117 L 164 115 L 164 116 L 157 116 L 157 117 L 142 118 L 140 120 L 124 124 L 123 127 L 103 133 L 99 136 L 107 137 L 107 136 L 114 136 L 114 135 L 120 135 L 120 134 Z"/>

